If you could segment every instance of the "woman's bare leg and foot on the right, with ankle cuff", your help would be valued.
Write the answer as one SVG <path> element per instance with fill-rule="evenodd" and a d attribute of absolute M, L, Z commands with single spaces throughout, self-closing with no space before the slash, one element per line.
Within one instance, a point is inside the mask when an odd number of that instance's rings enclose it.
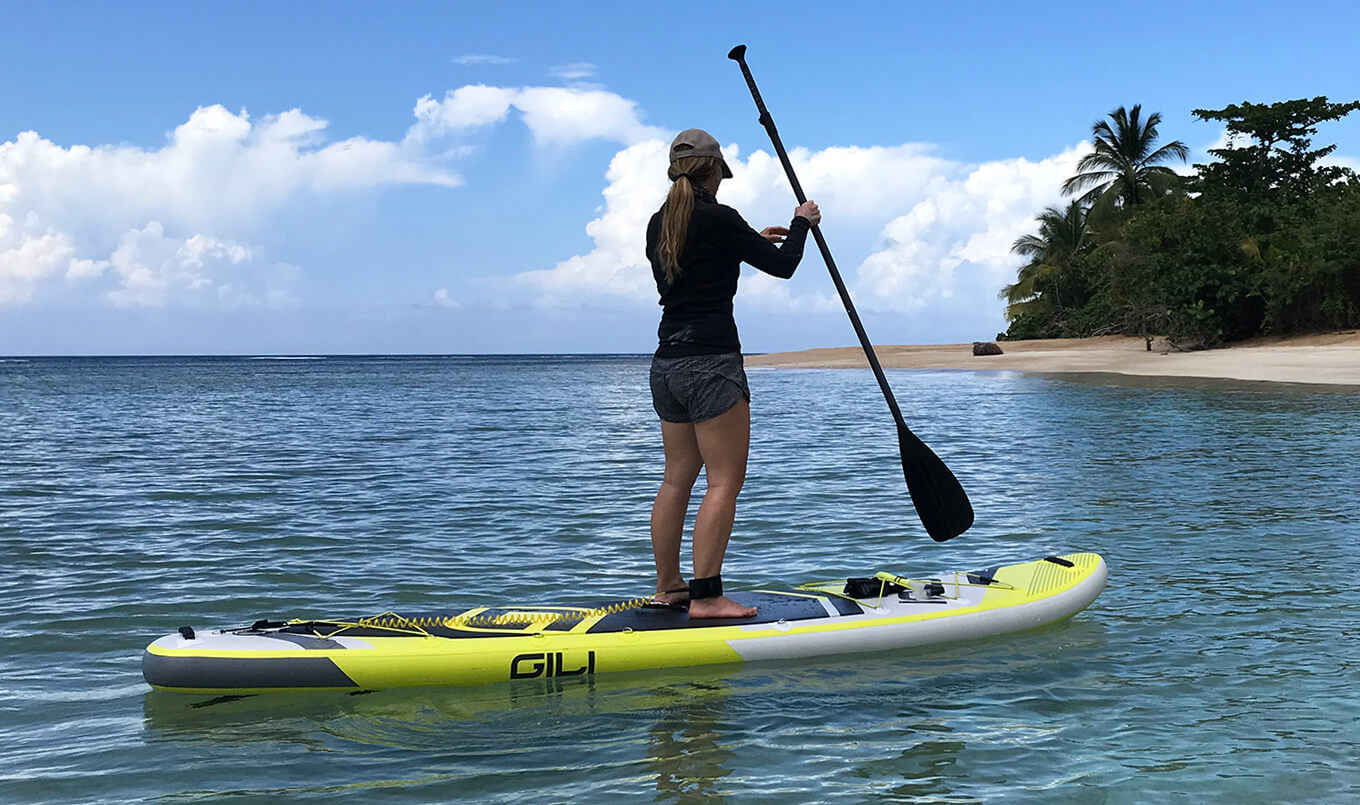
<path fill-rule="evenodd" d="M 737 494 L 747 480 L 751 447 L 751 404 L 738 400 L 725 413 L 695 423 L 695 439 L 709 477 L 709 491 L 694 522 L 694 575 L 722 572 L 722 558 L 737 514 Z M 729 598 L 690 601 L 690 617 L 751 617 L 756 611 Z"/>

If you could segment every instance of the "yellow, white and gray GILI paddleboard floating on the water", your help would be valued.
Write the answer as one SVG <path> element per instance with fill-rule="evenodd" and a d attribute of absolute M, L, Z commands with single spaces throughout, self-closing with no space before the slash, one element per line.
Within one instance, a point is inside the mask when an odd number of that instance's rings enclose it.
<path fill-rule="evenodd" d="M 1068 553 L 921 578 L 880 572 L 729 593 L 759 606 L 744 619 L 690 620 L 681 608 L 636 598 L 181 627 L 147 646 L 141 673 L 156 689 L 184 693 L 371 691 L 885 651 L 1072 617 L 1095 601 L 1106 575 L 1099 555 Z"/>

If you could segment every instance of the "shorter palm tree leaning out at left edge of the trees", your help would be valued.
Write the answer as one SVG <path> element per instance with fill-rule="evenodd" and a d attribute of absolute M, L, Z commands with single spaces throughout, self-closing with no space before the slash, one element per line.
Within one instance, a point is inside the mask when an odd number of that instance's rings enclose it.
<path fill-rule="evenodd" d="M 1020 315 L 1047 317 L 1062 309 L 1061 279 L 1072 260 L 1087 246 L 1088 208 L 1080 200 L 1068 204 L 1066 209 L 1046 207 L 1035 220 L 1039 234 L 1023 235 L 1010 250 L 1030 262 L 1020 268 L 1015 284 L 1001 288 L 997 294 L 1006 301 L 1006 321 Z M 1046 292 L 1051 291 L 1053 296 Z"/>

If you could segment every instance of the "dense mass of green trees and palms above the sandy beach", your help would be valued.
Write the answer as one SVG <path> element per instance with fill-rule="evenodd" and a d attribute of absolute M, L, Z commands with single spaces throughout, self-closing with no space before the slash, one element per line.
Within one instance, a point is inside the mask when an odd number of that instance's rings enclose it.
<path fill-rule="evenodd" d="M 1360 102 L 1314 98 L 1195 110 L 1225 122 L 1229 147 L 1195 166 L 1190 194 L 1145 193 L 1155 182 L 1095 184 L 1092 167 L 1108 156 L 1098 124 L 1096 152 L 1064 185 L 1093 189 L 1066 209 L 1050 207 L 1039 233 L 1016 241 L 1030 262 L 1001 291 L 1009 303 L 1002 336 L 1163 335 L 1204 348 L 1360 326 L 1360 179 L 1321 165 L 1336 147 L 1311 143 L 1318 122 L 1355 109 Z M 1166 152 L 1153 148 L 1160 117 L 1140 126 L 1138 114 L 1137 106 L 1111 114 L 1106 132 L 1115 144 L 1106 151 Z M 1140 132 L 1137 148 L 1118 144 L 1130 132 Z"/>

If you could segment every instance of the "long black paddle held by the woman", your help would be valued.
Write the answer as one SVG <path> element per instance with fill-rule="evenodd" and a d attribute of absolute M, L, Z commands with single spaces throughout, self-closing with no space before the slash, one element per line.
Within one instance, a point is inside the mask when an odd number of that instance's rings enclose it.
<path fill-rule="evenodd" d="M 751 68 L 747 67 L 747 46 L 737 45 L 728 53 L 728 58 L 741 65 L 741 75 L 747 78 L 747 87 L 751 88 L 751 97 L 755 98 L 756 109 L 760 110 L 760 125 L 770 135 L 770 141 L 774 143 L 779 162 L 783 163 L 783 173 L 787 174 L 789 184 L 793 185 L 793 194 L 798 199 L 798 204 L 802 204 L 808 197 L 802 194 L 798 177 L 793 173 L 793 163 L 789 162 L 789 154 L 783 150 L 779 132 L 774 128 L 774 118 L 770 117 L 770 112 L 764 107 L 764 101 L 760 99 L 760 90 L 756 88 L 756 80 L 751 75 Z M 821 250 L 821 258 L 827 262 L 827 271 L 831 272 L 831 281 L 835 283 L 836 292 L 840 294 L 840 302 L 846 306 L 850 324 L 854 325 L 854 332 L 860 336 L 860 345 L 864 347 L 865 358 L 869 359 L 873 377 L 879 378 L 879 388 L 883 389 L 883 397 L 888 401 L 892 419 L 898 422 L 902 475 L 907 479 L 907 491 L 911 492 L 911 503 L 917 507 L 921 525 L 926 526 L 926 533 L 937 543 L 952 540 L 972 525 L 972 504 L 968 503 L 968 495 L 963 491 L 963 485 L 959 484 L 959 479 L 953 477 L 953 473 L 945 466 L 944 461 L 940 461 L 940 457 L 919 436 L 911 432 L 911 428 L 902 419 L 902 409 L 898 408 L 898 400 L 892 396 L 892 389 L 888 388 L 888 378 L 883 375 L 883 367 L 879 366 L 879 356 L 873 354 L 873 344 L 869 343 L 869 336 L 865 335 L 864 325 L 860 324 L 860 314 L 854 311 L 850 291 L 846 290 L 846 284 L 840 279 L 840 272 L 836 271 L 836 262 L 831 258 L 831 249 L 827 247 L 827 241 L 821 237 L 821 228 L 812 227 L 812 237 L 817 241 L 817 249 Z"/>

